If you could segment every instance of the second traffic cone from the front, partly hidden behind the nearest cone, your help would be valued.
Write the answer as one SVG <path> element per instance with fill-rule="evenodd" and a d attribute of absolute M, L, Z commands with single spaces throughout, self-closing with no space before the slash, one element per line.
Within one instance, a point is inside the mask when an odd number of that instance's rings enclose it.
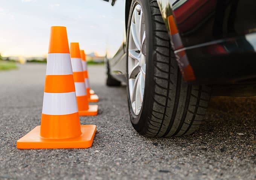
<path fill-rule="evenodd" d="M 82 60 L 78 42 L 70 43 L 70 57 L 76 87 L 76 99 L 78 104 L 79 115 L 97 115 L 98 105 L 88 104 L 88 94 L 85 89 Z"/>

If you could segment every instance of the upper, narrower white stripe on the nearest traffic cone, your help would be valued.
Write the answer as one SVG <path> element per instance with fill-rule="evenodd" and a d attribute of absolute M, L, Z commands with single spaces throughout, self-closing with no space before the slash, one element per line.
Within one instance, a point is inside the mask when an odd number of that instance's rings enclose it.
<path fill-rule="evenodd" d="M 73 74 L 69 53 L 50 53 L 47 57 L 46 75 Z"/>

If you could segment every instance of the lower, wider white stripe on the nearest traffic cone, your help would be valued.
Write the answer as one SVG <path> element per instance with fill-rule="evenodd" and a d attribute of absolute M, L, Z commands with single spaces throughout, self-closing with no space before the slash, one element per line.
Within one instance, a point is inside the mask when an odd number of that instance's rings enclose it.
<path fill-rule="evenodd" d="M 76 93 L 44 93 L 43 114 L 64 115 L 78 112 Z"/>

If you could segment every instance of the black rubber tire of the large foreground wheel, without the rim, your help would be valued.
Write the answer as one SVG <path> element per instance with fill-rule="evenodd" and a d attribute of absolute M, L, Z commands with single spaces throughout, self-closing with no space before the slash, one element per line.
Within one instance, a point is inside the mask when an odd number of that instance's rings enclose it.
<path fill-rule="evenodd" d="M 127 86 L 131 123 L 137 132 L 148 137 L 191 134 L 204 120 L 212 88 L 207 85 L 188 85 L 183 80 L 156 0 L 131 2 L 126 52 L 128 52 L 131 17 L 138 3 L 145 17 L 146 75 L 139 115 L 133 111 L 129 86 Z M 128 76 L 128 55 L 126 75 Z"/>

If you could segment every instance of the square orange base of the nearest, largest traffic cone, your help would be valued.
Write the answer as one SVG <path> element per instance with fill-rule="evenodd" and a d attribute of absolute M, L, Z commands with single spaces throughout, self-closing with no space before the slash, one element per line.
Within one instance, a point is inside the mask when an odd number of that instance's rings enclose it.
<path fill-rule="evenodd" d="M 93 144 L 96 132 L 95 125 L 81 125 L 82 135 L 69 139 L 45 139 L 40 136 L 40 126 L 17 141 L 18 149 L 62 149 L 62 148 L 88 148 Z"/>

